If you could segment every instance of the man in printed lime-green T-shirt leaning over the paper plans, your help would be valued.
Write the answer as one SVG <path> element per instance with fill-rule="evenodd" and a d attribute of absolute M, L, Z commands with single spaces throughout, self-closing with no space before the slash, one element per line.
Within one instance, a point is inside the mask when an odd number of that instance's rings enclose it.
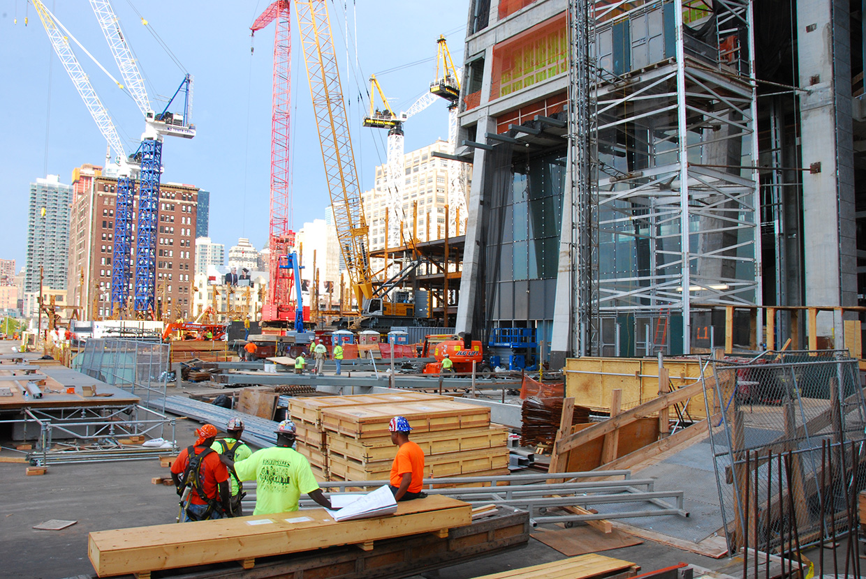
<path fill-rule="evenodd" d="M 275 447 L 262 448 L 248 459 L 237 462 L 224 455 L 221 457 L 225 466 L 234 469 L 238 480 L 255 479 L 253 514 L 297 511 L 301 493 L 307 493 L 310 499 L 330 509 L 331 501 L 322 494 L 310 463 L 293 448 L 297 434 L 294 422 L 281 421 L 275 432 Z"/>

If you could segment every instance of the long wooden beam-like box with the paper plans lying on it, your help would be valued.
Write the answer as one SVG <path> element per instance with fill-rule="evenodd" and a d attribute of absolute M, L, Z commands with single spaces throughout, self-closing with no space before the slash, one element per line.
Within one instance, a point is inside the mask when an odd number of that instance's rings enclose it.
<path fill-rule="evenodd" d="M 288 515 L 288 516 L 287 516 Z M 308 518 L 288 522 L 288 519 Z M 260 521 L 262 523 L 260 523 Z M 148 573 L 406 537 L 472 522 L 468 503 L 431 495 L 399 503 L 389 517 L 336 523 L 324 509 L 223 518 L 196 524 L 159 524 L 90 533 L 87 556 L 97 575 Z M 242 556 L 240 556 L 242 553 Z"/>

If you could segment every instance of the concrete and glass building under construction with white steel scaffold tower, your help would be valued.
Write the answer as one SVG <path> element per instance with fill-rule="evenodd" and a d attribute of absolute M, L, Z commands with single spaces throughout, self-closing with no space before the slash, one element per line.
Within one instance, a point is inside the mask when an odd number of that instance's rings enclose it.
<path fill-rule="evenodd" d="M 536 331 L 559 367 L 721 345 L 720 306 L 740 344 L 750 306 L 858 306 L 861 8 L 474 0 L 458 330 Z"/>

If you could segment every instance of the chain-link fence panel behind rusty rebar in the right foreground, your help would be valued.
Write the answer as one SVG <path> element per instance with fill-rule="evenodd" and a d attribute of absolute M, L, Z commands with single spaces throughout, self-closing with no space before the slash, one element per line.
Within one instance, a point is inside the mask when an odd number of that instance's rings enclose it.
<path fill-rule="evenodd" d="M 851 530 L 866 487 L 866 404 L 847 351 L 712 360 L 705 378 L 728 548 L 766 552 Z M 855 507 L 856 511 L 856 507 Z"/>

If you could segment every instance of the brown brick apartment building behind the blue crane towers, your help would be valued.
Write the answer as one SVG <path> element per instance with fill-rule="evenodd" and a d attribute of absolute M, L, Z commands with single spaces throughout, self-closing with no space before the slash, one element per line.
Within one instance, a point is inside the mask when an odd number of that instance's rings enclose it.
<path fill-rule="evenodd" d="M 111 315 L 114 207 L 117 178 L 82 165 L 73 172 L 74 200 L 69 240 L 70 301 L 83 306 L 82 319 Z M 155 299 L 165 319 L 187 318 L 195 278 L 198 188 L 161 183 L 157 230 Z M 132 204 L 132 260 L 138 227 L 139 196 Z M 131 267 L 134 272 L 135 267 Z M 82 280 L 84 289 L 82 291 Z M 130 280 L 132 282 L 132 280 Z M 129 293 L 132 306 L 132 291 Z M 83 298 L 83 299 L 82 299 Z"/>

